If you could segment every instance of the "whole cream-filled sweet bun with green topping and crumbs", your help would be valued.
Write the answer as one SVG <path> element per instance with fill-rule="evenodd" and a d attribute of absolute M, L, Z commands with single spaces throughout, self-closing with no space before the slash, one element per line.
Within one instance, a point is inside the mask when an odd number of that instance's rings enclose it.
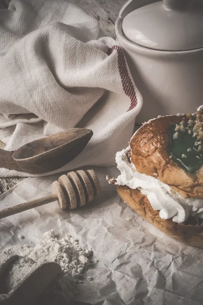
<path fill-rule="evenodd" d="M 116 154 L 119 196 L 161 231 L 203 248 L 203 107 L 145 123 Z"/>

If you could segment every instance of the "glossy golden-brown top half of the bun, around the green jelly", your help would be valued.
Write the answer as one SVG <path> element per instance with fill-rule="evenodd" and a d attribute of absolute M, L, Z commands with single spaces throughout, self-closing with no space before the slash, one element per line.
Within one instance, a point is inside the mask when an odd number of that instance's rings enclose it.
<path fill-rule="evenodd" d="M 159 178 L 183 198 L 203 198 L 203 166 L 193 174 L 184 171 L 169 158 L 168 129 L 185 116 L 168 115 L 144 124 L 130 141 L 131 161 L 137 171 Z"/>

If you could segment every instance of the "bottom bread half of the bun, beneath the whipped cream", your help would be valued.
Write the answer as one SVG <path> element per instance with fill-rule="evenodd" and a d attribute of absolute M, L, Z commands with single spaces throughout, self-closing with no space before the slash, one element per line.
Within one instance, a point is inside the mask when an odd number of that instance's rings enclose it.
<path fill-rule="evenodd" d="M 181 240 L 190 246 L 203 248 L 203 225 L 194 224 L 195 219 L 190 218 L 186 223 L 178 224 L 172 219 L 163 220 L 159 217 L 159 211 L 155 211 L 148 198 L 139 190 L 132 190 L 126 186 L 117 186 L 119 196 L 142 218 L 153 224 L 165 234 Z M 191 224 L 190 224 L 191 223 Z"/>

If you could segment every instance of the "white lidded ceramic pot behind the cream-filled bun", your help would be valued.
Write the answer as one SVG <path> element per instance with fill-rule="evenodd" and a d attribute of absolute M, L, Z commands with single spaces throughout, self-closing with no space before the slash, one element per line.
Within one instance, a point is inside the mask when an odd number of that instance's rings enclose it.
<path fill-rule="evenodd" d="M 117 41 L 144 101 L 138 123 L 203 104 L 203 4 L 191 1 L 129 0 L 120 11 Z"/>

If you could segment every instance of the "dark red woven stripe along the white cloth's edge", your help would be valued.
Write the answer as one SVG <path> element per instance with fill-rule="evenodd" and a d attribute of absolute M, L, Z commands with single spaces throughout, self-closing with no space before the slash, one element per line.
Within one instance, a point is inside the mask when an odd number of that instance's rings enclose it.
<path fill-rule="evenodd" d="M 118 68 L 123 85 L 124 93 L 130 98 L 130 107 L 127 111 L 133 109 L 137 105 L 137 96 L 134 86 L 129 77 L 127 66 L 125 62 L 125 55 L 121 47 L 114 45 L 112 48 L 109 48 L 108 54 L 110 55 L 114 50 L 118 53 Z"/>

